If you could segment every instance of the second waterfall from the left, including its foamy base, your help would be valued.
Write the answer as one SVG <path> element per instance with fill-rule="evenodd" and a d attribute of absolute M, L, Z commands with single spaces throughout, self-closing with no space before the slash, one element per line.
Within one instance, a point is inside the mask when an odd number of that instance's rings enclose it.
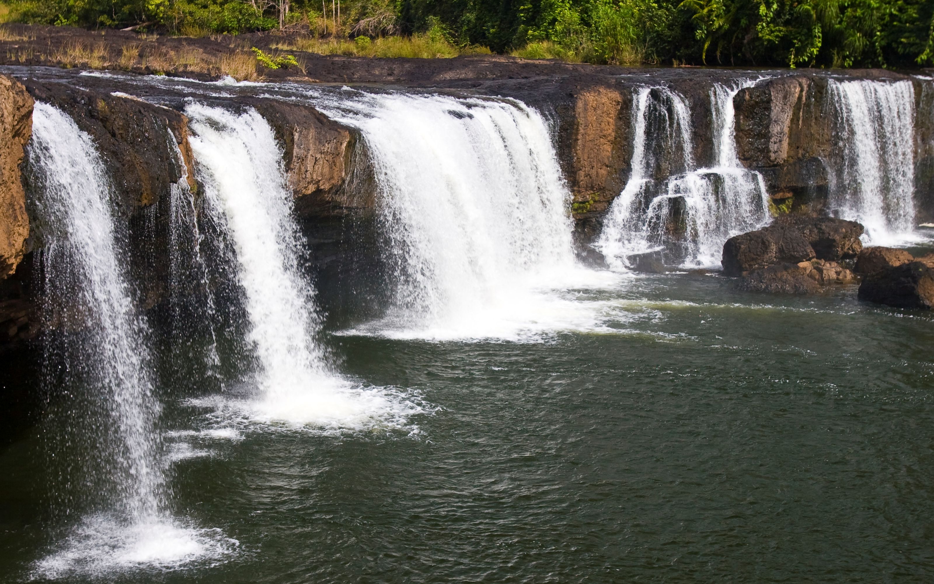
<path fill-rule="evenodd" d="M 232 240 L 245 292 L 259 388 L 249 415 L 352 428 L 414 412 L 388 393 L 355 387 L 329 366 L 316 340 L 314 289 L 300 266 L 304 243 L 269 124 L 253 109 L 236 114 L 191 104 L 186 113 L 207 208 Z"/>

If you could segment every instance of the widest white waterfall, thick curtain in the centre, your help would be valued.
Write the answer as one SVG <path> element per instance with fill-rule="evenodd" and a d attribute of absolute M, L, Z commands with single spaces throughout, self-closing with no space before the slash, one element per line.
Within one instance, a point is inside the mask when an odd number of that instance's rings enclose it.
<path fill-rule="evenodd" d="M 520 339 L 594 326 L 566 289 L 600 276 L 574 260 L 570 192 L 538 112 L 399 93 L 324 109 L 361 130 L 395 270 L 388 315 L 358 332 Z"/>

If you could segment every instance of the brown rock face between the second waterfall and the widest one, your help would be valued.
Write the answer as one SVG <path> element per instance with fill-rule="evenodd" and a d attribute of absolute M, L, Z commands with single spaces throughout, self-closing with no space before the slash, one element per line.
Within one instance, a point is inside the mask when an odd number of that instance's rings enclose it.
<path fill-rule="evenodd" d="M 302 215 L 344 215 L 372 208 L 370 189 L 346 189 L 347 180 L 359 170 L 360 144 L 357 130 L 330 120 L 317 109 L 253 100 L 276 132 L 283 147 L 289 184 L 296 210 Z"/>

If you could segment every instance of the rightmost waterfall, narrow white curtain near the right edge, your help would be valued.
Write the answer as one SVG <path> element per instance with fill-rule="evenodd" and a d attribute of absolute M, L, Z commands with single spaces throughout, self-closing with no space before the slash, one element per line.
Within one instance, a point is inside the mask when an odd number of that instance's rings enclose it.
<path fill-rule="evenodd" d="M 866 227 L 873 245 L 896 245 L 914 228 L 914 87 L 911 81 L 830 80 L 842 148 L 829 204 Z"/>

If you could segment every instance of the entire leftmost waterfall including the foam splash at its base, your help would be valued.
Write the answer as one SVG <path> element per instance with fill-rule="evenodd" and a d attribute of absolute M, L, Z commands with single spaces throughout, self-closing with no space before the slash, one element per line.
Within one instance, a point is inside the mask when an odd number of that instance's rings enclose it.
<path fill-rule="evenodd" d="M 36 215 L 43 225 L 45 318 L 80 338 L 65 353 L 90 411 L 69 420 L 71 440 L 97 444 L 69 482 L 92 487 L 81 523 L 35 565 L 36 577 L 70 577 L 127 565 L 163 568 L 203 558 L 214 541 L 179 526 L 165 510 L 146 327 L 122 273 L 104 164 L 89 135 L 61 110 L 36 103 L 29 161 L 39 177 Z M 74 468 L 74 467 L 73 467 Z M 214 543 L 211 543 L 214 542 Z M 184 552 L 180 552 L 184 549 Z"/>

